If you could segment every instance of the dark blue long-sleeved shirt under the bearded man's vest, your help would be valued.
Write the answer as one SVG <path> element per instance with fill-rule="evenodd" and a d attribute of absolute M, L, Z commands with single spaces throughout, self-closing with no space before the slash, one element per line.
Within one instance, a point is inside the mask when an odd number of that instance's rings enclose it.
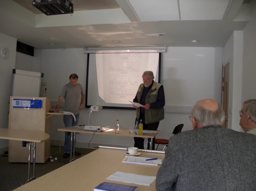
<path fill-rule="evenodd" d="M 140 104 L 145 105 L 145 99 L 147 97 L 147 94 L 148 94 L 149 90 L 153 86 L 153 82 L 154 81 L 152 81 L 152 83 L 150 84 L 150 86 L 148 88 L 146 88 L 144 86 L 143 92 L 141 94 Z M 137 95 L 138 95 L 138 92 L 137 92 L 135 98 L 133 99 L 133 102 L 138 103 Z M 154 103 L 150 103 L 150 108 L 158 109 L 158 108 L 161 108 L 161 107 L 164 107 L 164 106 L 165 106 L 165 92 L 164 92 L 164 87 L 161 86 L 158 89 L 158 92 L 157 92 L 157 101 L 154 102 Z M 140 112 L 141 112 L 141 114 L 144 114 L 145 113 L 145 108 L 140 107 Z"/>

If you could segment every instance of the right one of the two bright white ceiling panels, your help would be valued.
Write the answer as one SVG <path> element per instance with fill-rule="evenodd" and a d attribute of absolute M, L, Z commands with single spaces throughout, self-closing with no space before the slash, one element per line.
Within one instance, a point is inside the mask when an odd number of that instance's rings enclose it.
<path fill-rule="evenodd" d="M 229 0 L 179 0 L 181 20 L 222 20 Z"/>

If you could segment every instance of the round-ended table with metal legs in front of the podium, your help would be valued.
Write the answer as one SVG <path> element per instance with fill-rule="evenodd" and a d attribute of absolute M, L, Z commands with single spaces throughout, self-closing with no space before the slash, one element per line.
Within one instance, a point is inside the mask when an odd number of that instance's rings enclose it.
<path fill-rule="evenodd" d="M 35 161 L 36 161 L 36 143 L 42 143 L 50 139 L 50 135 L 41 131 L 31 131 L 23 129 L 0 129 L 0 139 L 22 141 L 20 146 L 28 147 L 28 179 L 23 183 L 26 184 L 35 177 Z M 32 146 L 31 143 L 34 142 Z M 27 145 L 28 143 L 28 145 Z M 30 153 L 33 148 L 33 176 L 30 178 Z M 50 156 L 49 156 L 50 157 Z"/>

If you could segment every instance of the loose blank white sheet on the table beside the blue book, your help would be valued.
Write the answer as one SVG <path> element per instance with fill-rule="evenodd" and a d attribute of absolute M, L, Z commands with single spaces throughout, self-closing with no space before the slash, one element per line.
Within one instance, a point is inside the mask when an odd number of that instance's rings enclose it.
<path fill-rule="evenodd" d="M 126 183 L 149 186 L 154 180 L 156 180 L 156 177 L 144 176 L 139 174 L 131 174 L 131 173 L 125 173 L 125 172 L 116 172 L 110 175 L 106 179 L 118 181 L 118 182 L 126 182 Z"/>

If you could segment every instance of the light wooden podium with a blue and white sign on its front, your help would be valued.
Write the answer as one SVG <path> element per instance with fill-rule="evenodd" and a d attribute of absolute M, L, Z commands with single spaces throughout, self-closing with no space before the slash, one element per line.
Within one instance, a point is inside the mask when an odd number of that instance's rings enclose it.
<path fill-rule="evenodd" d="M 42 100 L 42 102 L 40 100 Z M 31 105 L 28 106 L 30 102 Z M 41 106 L 40 103 L 42 108 L 36 108 L 38 105 Z M 11 96 L 8 128 L 35 130 L 51 134 L 51 119 L 46 118 L 46 113 L 50 110 L 51 103 L 48 98 Z M 44 163 L 50 157 L 50 154 L 50 139 L 43 143 L 36 144 L 36 163 Z M 28 149 L 22 147 L 21 141 L 9 140 L 8 158 L 9 162 L 27 162 Z M 30 160 L 33 161 L 33 154 L 31 155 Z"/>

